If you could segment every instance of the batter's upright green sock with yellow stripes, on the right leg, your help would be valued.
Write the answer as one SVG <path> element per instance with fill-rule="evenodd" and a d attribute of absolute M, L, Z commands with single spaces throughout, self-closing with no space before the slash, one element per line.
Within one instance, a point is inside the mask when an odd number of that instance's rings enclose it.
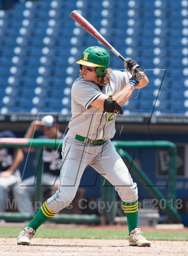
<path fill-rule="evenodd" d="M 122 202 L 123 210 L 127 216 L 128 232 L 138 227 L 138 200 L 135 202 Z"/>

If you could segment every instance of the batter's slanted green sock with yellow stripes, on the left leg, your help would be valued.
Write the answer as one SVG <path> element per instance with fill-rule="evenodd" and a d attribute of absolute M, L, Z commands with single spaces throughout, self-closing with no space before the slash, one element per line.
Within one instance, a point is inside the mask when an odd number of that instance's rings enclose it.
<path fill-rule="evenodd" d="M 45 201 L 27 227 L 33 228 L 36 231 L 40 225 L 52 218 L 55 214 L 55 212 L 50 211 Z"/>

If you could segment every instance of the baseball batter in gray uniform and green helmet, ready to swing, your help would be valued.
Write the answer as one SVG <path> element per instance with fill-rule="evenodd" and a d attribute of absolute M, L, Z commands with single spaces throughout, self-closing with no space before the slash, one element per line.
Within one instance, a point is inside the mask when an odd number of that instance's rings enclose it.
<path fill-rule="evenodd" d="M 137 77 L 141 68 L 135 61 L 125 63 L 129 72 L 120 72 L 111 71 L 109 59 L 105 49 L 91 46 L 77 61 L 80 76 L 72 87 L 72 118 L 63 140 L 60 186 L 21 231 L 17 244 L 29 245 L 36 229 L 72 202 L 81 176 L 90 165 L 115 186 L 123 202 L 129 245 L 150 246 L 138 228 L 137 184 L 110 140 L 115 135 L 116 115 L 123 114 L 122 106 L 133 91 L 149 81 L 146 76 L 141 80 Z"/>

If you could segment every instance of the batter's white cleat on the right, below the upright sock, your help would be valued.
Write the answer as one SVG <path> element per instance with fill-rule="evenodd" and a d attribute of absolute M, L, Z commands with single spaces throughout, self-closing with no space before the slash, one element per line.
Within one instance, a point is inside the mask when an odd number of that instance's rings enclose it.
<path fill-rule="evenodd" d="M 131 231 L 128 243 L 130 246 L 139 246 L 144 247 L 148 246 L 150 247 L 150 241 L 146 240 L 144 236 L 141 235 L 141 229 L 135 228 Z"/>

